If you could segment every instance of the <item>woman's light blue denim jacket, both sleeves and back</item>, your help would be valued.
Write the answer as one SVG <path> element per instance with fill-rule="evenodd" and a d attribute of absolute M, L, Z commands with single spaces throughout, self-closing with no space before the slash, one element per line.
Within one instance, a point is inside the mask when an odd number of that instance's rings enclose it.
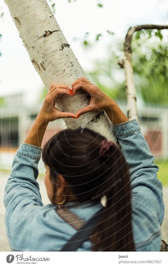
<path fill-rule="evenodd" d="M 114 125 L 113 130 L 131 174 L 132 228 L 136 251 L 160 251 L 160 226 L 164 217 L 162 184 L 158 166 L 150 152 L 137 120 Z M 76 233 L 56 213 L 52 204 L 43 205 L 39 185 L 38 162 L 42 149 L 22 143 L 14 157 L 5 187 L 5 225 L 11 251 L 59 251 Z M 70 205 L 66 203 L 65 205 Z M 100 204 L 74 205 L 70 210 L 87 221 Z M 110 219 L 112 223 L 112 218 Z M 91 242 L 83 242 L 78 251 L 91 251 Z"/>

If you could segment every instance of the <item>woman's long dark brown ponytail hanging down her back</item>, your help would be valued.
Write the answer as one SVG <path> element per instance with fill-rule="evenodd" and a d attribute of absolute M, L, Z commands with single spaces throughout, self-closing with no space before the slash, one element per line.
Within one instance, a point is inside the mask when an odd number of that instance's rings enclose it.
<path fill-rule="evenodd" d="M 134 251 L 128 164 L 114 142 L 104 140 L 99 155 L 101 161 L 107 157 L 102 187 L 106 201 L 92 236 L 93 251 Z"/>

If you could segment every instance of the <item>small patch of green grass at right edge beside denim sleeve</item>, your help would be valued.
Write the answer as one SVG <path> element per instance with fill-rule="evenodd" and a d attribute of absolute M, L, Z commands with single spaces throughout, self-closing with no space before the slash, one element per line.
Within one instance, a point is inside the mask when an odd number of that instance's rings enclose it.
<path fill-rule="evenodd" d="M 168 186 L 168 161 L 163 159 L 156 160 L 154 163 L 159 166 L 158 179 L 162 182 L 163 186 Z"/>

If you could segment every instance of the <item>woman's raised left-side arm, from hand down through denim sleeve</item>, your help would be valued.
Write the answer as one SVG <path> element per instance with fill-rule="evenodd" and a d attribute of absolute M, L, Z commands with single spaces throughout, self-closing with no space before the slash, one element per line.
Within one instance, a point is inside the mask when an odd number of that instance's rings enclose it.
<path fill-rule="evenodd" d="M 42 138 L 49 121 L 59 118 L 70 118 L 73 113 L 59 112 L 55 108 L 57 97 L 62 94 L 70 95 L 67 86 L 53 84 L 44 100 L 25 142 L 21 144 L 14 156 L 10 178 L 5 186 L 4 205 L 6 208 L 5 224 L 9 242 L 11 232 L 25 219 L 27 225 L 31 223 L 36 209 L 43 206 L 39 185 L 36 181 L 38 176 L 38 162 L 41 157 L 40 148 Z M 10 220 L 9 220 L 10 219 Z M 10 229 L 10 231 L 9 231 Z M 16 237 L 15 237 L 16 238 Z"/>

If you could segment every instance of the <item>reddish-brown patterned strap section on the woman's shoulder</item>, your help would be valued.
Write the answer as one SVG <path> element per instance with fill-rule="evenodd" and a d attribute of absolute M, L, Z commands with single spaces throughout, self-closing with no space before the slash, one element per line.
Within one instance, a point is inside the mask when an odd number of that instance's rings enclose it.
<path fill-rule="evenodd" d="M 56 212 L 65 222 L 69 223 L 76 230 L 79 230 L 85 224 L 80 217 L 73 214 L 68 208 L 57 208 Z"/>

